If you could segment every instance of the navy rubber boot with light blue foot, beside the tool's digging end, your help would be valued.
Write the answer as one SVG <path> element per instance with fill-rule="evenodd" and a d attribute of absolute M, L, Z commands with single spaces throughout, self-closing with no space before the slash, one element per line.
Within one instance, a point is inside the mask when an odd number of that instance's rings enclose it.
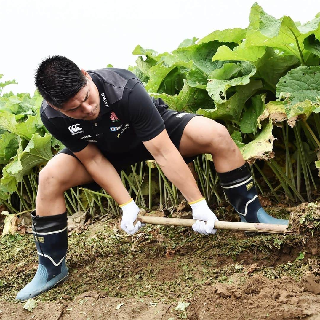
<path fill-rule="evenodd" d="M 242 222 L 260 222 L 277 225 L 287 225 L 289 223 L 288 220 L 271 217 L 261 207 L 257 190 L 246 164 L 228 172 L 217 172 L 217 174 L 224 193 L 239 214 Z"/>

